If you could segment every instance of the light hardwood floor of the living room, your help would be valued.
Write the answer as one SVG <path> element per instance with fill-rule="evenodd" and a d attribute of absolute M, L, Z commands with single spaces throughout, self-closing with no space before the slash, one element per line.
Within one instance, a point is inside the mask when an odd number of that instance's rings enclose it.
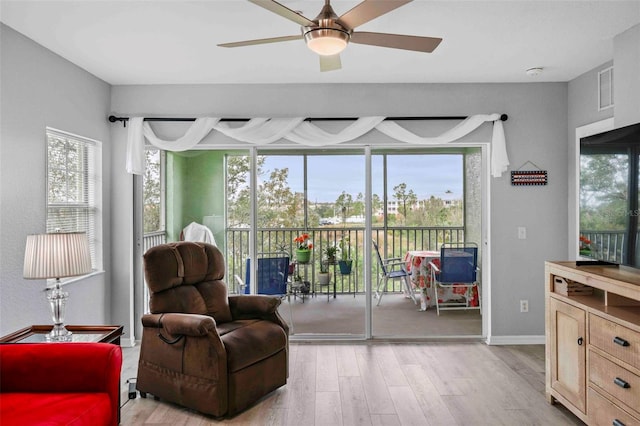
<path fill-rule="evenodd" d="M 286 386 L 232 419 L 122 399 L 122 425 L 581 425 L 544 398 L 544 346 L 292 343 Z M 123 348 L 123 390 L 139 347 Z"/>

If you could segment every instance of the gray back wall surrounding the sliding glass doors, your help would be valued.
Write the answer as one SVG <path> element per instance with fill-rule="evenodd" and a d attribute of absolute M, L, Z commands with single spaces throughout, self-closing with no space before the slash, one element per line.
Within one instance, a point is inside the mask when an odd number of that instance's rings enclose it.
<path fill-rule="evenodd" d="M 566 83 L 115 86 L 112 109 L 225 117 L 509 114 L 512 166 L 532 161 L 548 170 L 549 185 L 513 187 L 508 172 L 491 179 L 491 325 L 497 336 L 544 334 L 543 262 L 564 258 L 567 245 Z M 125 138 L 114 132 L 114 174 L 125 174 Z M 112 201 L 114 234 L 124 234 L 117 226 L 129 229 L 131 198 L 114 194 Z M 527 240 L 517 239 L 518 226 L 528 229 Z M 529 300 L 529 313 L 519 312 L 520 299 Z"/>

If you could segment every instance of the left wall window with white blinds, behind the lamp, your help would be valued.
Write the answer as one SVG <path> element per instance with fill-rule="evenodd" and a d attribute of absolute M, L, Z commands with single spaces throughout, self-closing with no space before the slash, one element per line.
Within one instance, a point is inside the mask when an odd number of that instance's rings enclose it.
<path fill-rule="evenodd" d="M 101 143 L 47 128 L 47 232 L 86 232 L 93 270 L 98 250 Z"/>

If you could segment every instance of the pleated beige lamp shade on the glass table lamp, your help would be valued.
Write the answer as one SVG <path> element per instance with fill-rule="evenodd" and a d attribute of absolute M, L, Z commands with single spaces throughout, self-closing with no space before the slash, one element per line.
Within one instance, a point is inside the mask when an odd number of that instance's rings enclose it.
<path fill-rule="evenodd" d="M 85 232 L 28 235 L 24 251 L 26 279 L 75 277 L 91 272 Z"/>

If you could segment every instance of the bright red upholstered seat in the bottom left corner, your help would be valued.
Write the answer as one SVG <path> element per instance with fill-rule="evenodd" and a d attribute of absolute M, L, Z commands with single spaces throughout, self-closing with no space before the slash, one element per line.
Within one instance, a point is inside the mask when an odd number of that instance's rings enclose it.
<path fill-rule="evenodd" d="M 118 424 L 120 346 L 0 345 L 0 425 Z"/>

